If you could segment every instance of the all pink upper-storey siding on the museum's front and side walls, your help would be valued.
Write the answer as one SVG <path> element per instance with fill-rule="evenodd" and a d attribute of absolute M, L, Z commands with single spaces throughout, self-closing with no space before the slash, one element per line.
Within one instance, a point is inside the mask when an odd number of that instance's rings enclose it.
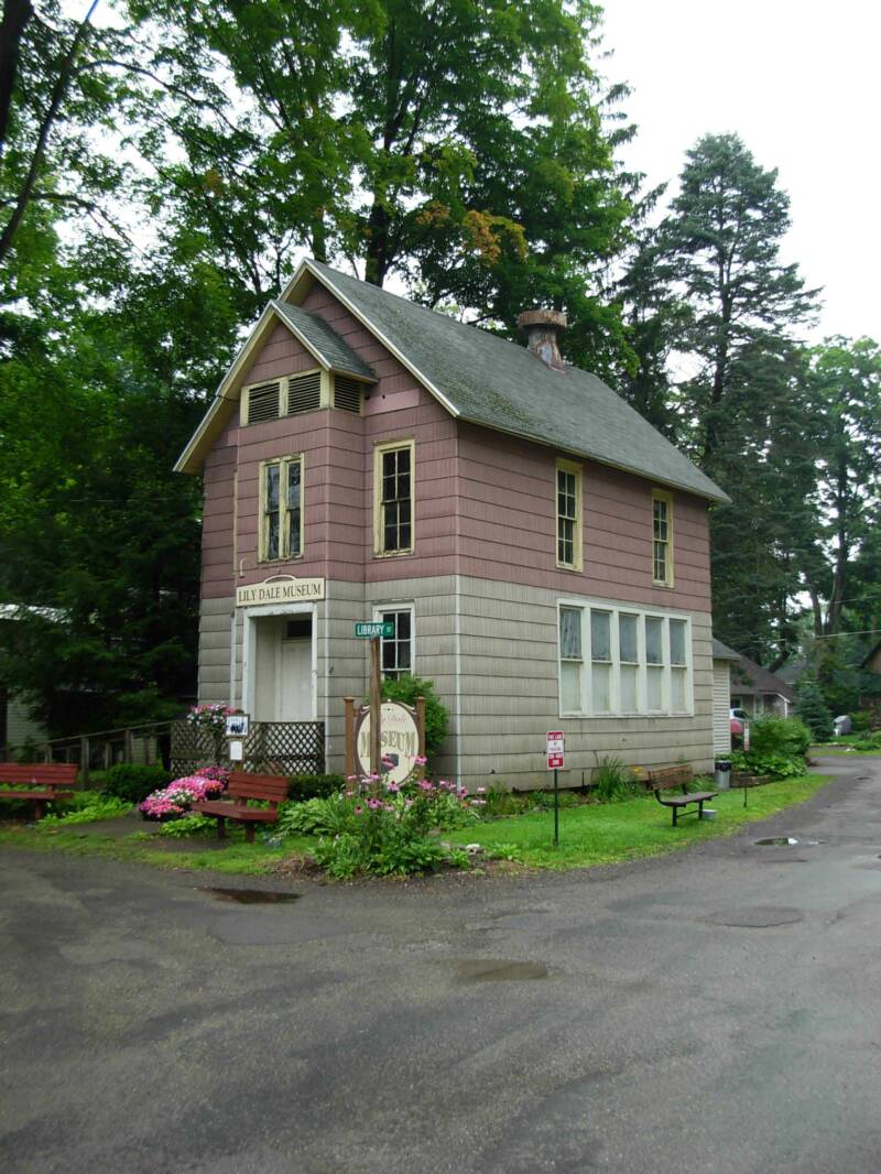
<path fill-rule="evenodd" d="M 248 427 L 237 412 L 206 461 L 202 591 L 270 574 L 390 582 L 460 573 L 657 607 L 709 609 L 706 504 L 674 493 L 675 586 L 652 586 L 652 483 L 584 461 L 584 571 L 556 566 L 556 457 L 550 448 L 451 417 L 412 375 L 317 282 L 303 309 L 341 335 L 378 376 L 363 416 L 320 410 Z M 278 324 L 243 383 L 316 366 Z M 552 411 L 552 405 L 547 406 Z M 374 555 L 374 447 L 416 441 L 416 551 Z M 302 453 L 304 553 L 257 562 L 260 464 Z M 237 487 L 236 534 L 233 492 Z M 234 573 L 234 564 L 243 574 Z"/>

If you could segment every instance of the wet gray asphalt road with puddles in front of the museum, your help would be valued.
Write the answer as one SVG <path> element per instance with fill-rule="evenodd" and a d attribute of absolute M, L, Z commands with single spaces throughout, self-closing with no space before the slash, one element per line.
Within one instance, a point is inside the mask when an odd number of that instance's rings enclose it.
<path fill-rule="evenodd" d="M 881 760 L 826 767 L 685 855 L 276 905 L 6 850 L 0 1169 L 874 1174 Z"/>

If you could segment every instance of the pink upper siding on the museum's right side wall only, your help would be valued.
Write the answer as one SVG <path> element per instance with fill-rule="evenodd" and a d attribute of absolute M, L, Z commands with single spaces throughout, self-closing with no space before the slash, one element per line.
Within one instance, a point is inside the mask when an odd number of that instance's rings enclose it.
<path fill-rule="evenodd" d="M 657 607 L 709 609 L 706 505 L 673 494 L 675 586 L 652 586 L 652 483 L 583 463 L 584 571 L 556 566 L 557 454 L 459 425 L 462 574 Z M 659 488 L 661 486 L 658 486 Z"/>

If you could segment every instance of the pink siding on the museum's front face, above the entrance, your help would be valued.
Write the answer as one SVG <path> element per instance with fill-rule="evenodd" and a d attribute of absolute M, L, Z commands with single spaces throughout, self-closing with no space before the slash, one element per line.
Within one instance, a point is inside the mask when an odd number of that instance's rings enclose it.
<path fill-rule="evenodd" d="M 413 377 L 374 342 L 332 298 L 305 309 L 322 313 L 370 363 L 379 382 L 369 389 L 363 417 L 320 410 L 247 427 L 228 426 L 206 461 L 206 531 L 202 592 L 231 594 L 235 586 L 269 574 L 382 582 L 401 576 L 450 573 L 455 556 L 456 424 Z M 316 304 L 317 303 L 317 304 Z M 278 324 L 254 357 L 242 382 L 294 375 L 315 359 Z M 234 444 L 229 445 L 230 438 Z M 374 446 L 416 441 L 417 547 L 412 555 L 374 558 Z M 303 454 L 304 548 L 291 561 L 258 564 L 260 465 Z M 233 480 L 237 485 L 237 532 L 233 540 Z M 235 545 L 235 548 L 234 548 Z M 233 561 L 243 573 L 233 574 Z"/>

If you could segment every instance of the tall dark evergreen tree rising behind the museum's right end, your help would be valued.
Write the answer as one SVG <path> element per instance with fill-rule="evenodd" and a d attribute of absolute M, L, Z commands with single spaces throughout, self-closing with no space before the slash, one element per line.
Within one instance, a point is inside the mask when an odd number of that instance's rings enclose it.
<path fill-rule="evenodd" d="M 788 227 L 776 171 L 735 135 L 706 135 L 628 276 L 640 365 L 675 363 L 675 439 L 732 497 L 712 515 L 714 629 L 766 662 L 796 641 L 812 537 L 816 417 L 796 329 L 816 296 L 780 259 Z"/>

